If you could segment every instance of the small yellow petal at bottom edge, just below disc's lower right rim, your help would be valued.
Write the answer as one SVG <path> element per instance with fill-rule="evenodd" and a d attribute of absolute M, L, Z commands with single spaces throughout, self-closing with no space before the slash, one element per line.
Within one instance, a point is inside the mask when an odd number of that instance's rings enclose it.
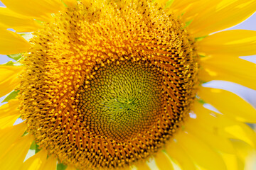
<path fill-rule="evenodd" d="M 172 166 L 171 164 L 171 159 L 166 153 L 159 151 L 157 152 L 154 159 L 155 159 L 156 165 L 159 167 L 159 170 L 174 169 L 174 166 Z"/>

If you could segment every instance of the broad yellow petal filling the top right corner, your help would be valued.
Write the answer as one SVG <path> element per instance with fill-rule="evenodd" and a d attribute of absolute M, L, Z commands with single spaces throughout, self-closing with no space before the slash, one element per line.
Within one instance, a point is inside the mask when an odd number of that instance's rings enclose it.
<path fill-rule="evenodd" d="M 200 1 L 191 6 L 195 12 L 188 30 L 194 37 L 201 37 L 209 33 L 235 26 L 255 13 L 255 0 L 223 0 Z"/>

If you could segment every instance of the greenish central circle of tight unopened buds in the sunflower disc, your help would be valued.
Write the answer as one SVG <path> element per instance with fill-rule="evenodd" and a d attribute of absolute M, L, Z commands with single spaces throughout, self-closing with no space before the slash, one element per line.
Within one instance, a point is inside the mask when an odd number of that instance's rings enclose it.
<path fill-rule="evenodd" d="M 161 74 L 146 63 L 118 62 L 100 67 L 79 95 L 83 122 L 95 135 L 123 141 L 151 127 L 161 112 Z"/>

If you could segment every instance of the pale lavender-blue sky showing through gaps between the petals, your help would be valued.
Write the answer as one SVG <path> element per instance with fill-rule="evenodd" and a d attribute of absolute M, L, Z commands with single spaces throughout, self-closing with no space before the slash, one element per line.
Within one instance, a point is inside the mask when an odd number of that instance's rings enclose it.
<path fill-rule="evenodd" d="M 1 1 L 0 1 L 0 6 L 4 6 L 4 4 L 1 3 Z M 229 28 L 227 30 L 232 30 L 232 29 L 256 30 L 256 13 L 252 15 L 250 18 L 248 18 L 246 21 L 240 23 L 237 26 L 234 26 L 233 28 Z M 256 55 L 241 57 L 241 58 L 248 60 L 250 62 L 256 63 Z M 7 57 L 6 55 L 0 55 L 0 64 L 4 64 L 8 61 L 10 61 L 9 57 Z M 256 73 L 253 73 L 253 74 L 256 74 Z M 245 98 L 245 100 L 252 103 L 252 105 L 255 106 L 256 108 L 256 91 L 252 89 L 248 89 L 244 86 L 240 86 L 238 84 L 233 84 L 231 82 L 225 82 L 225 81 L 210 81 L 209 83 L 204 84 L 204 86 L 232 91 L 235 94 L 238 94 L 239 96 L 241 96 L 242 98 Z M 3 99 L 4 97 L 0 98 L 0 102 Z M 0 103 L 0 106 L 1 106 L 1 103 Z"/>

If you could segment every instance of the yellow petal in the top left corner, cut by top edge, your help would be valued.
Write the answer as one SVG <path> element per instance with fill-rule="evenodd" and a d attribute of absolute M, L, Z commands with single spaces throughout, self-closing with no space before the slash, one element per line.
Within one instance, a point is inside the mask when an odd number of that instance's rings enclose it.
<path fill-rule="evenodd" d="M 1 0 L 4 5 L 16 13 L 46 21 L 50 13 L 60 11 L 64 5 L 58 0 Z"/>

